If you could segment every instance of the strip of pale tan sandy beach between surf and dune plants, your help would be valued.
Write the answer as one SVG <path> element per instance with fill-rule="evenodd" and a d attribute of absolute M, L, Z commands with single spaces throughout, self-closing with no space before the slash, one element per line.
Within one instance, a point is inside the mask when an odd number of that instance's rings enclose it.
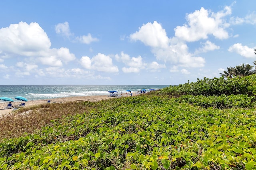
<path fill-rule="evenodd" d="M 123 95 L 126 96 L 126 95 Z M 120 96 L 121 97 L 121 96 Z M 66 98 L 53 98 L 49 99 L 50 103 L 64 103 L 64 102 L 74 102 L 74 101 L 100 101 L 100 100 L 106 100 L 106 99 L 111 99 L 111 97 L 108 97 L 107 95 L 102 95 L 102 96 L 75 96 L 75 97 L 66 97 Z M 4 107 L 7 106 L 9 102 L 0 103 L 0 115 L 12 113 L 13 109 L 4 109 Z M 18 105 L 19 102 L 11 102 L 13 106 Z M 22 103 L 22 102 L 20 102 Z M 26 106 L 34 106 L 34 105 L 40 105 L 40 104 L 47 104 L 48 100 L 30 100 L 28 102 L 25 102 Z M 3 109 L 2 109 L 3 108 Z"/>

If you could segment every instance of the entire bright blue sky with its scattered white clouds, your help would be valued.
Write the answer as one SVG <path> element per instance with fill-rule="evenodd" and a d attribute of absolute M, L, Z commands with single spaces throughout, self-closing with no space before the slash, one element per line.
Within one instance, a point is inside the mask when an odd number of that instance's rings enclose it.
<path fill-rule="evenodd" d="M 254 0 L 2 0 L 0 84 L 178 85 L 256 61 Z"/>

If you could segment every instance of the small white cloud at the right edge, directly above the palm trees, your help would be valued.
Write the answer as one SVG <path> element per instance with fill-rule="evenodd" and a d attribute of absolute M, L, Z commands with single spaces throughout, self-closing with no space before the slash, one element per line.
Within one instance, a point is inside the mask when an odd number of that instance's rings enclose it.
<path fill-rule="evenodd" d="M 255 57 L 254 48 L 249 48 L 246 45 L 243 46 L 241 43 L 236 43 L 236 44 L 230 46 L 228 51 L 237 53 L 246 58 Z"/>

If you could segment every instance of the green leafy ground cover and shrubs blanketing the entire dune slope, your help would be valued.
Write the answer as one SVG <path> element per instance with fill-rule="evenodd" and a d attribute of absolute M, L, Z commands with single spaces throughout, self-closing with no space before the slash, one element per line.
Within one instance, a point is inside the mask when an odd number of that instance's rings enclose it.
<path fill-rule="evenodd" d="M 52 120 L 2 139 L 0 168 L 256 169 L 255 83 L 255 74 L 204 78 L 141 96 L 33 108 Z M 20 119 L 33 129 L 30 116 Z"/>

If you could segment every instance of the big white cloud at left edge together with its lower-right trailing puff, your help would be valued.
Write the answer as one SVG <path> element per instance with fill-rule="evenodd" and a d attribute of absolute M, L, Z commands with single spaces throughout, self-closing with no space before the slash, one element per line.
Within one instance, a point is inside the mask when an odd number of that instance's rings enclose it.
<path fill-rule="evenodd" d="M 34 57 L 34 62 L 62 66 L 76 57 L 69 49 L 50 49 L 51 42 L 38 23 L 20 22 L 0 29 L 0 51 L 8 56 Z"/>

